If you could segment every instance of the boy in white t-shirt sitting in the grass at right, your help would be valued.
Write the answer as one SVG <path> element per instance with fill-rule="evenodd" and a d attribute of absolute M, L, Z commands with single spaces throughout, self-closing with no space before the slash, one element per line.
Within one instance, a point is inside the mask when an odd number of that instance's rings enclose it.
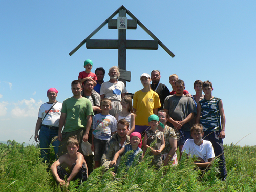
<path fill-rule="evenodd" d="M 193 139 L 187 139 L 182 148 L 182 153 L 188 154 L 188 157 L 194 155 L 199 161 L 195 161 L 198 167 L 206 168 L 215 158 L 214 148 L 210 141 L 203 140 L 204 136 L 203 126 L 201 124 L 194 124 L 191 127 L 191 136 Z"/>

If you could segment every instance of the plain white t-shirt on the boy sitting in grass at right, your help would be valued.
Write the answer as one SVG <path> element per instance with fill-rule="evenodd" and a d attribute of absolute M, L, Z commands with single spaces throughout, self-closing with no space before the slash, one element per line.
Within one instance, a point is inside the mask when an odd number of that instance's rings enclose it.
<path fill-rule="evenodd" d="M 210 141 L 202 140 L 203 143 L 198 146 L 194 143 L 194 139 L 187 139 L 183 145 L 182 152 L 185 151 L 188 154 L 188 157 L 197 157 L 202 158 L 205 162 L 208 162 L 208 159 L 214 158 L 214 148 Z"/>

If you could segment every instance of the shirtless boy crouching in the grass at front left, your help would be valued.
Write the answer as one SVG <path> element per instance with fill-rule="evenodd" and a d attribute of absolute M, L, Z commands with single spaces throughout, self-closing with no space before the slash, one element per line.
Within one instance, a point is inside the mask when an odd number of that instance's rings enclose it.
<path fill-rule="evenodd" d="M 68 153 L 59 157 L 51 166 L 52 175 L 55 180 L 62 186 L 69 186 L 71 180 L 80 179 L 79 183 L 86 181 L 88 178 L 88 168 L 86 161 L 81 153 L 77 152 L 79 148 L 79 142 L 75 136 L 69 137 L 67 141 Z M 70 174 L 66 172 L 65 168 L 68 168 Z M 65 177 L 67 181 L 65 182 Z"/>

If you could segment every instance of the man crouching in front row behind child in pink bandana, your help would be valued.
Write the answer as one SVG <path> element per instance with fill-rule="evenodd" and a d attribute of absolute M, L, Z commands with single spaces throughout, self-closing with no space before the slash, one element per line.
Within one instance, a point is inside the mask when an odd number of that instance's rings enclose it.
<path fill-rule="evenodd" d="M 127 136 L 129 131 L 129 122 L 125 119 L 121 119 L 117 123 L 117 133 L 106 143 L 105 152 L 101 158 L 101 165 L 105 167 L 105 170 L 109 169 L 110 162 L 113 160 L 116 152 L 118 152 L 126 144 L 129 144 L 130 137 Z M 117 159 L 119 164 L 121 157 Z"/>

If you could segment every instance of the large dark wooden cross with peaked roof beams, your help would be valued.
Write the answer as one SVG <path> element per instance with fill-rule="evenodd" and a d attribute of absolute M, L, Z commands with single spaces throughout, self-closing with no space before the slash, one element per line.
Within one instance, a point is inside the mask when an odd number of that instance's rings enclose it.
<path fill-rule="evenodd" d="M 144 29 L 154 40 L 126 40 L 126 29 L 118 29 L 118 40 L 102 40 L 90 39 L 104 25 L 109 24 L 109 29 L 117 29 L 117 19 L 112 19 L 119 13 L 119 17 L 126 17 L 126 13 L 133 19 L 128 20 L 127 29 L 137 29 L 137 24 Z M 94 30 L 86 39 L 84 39 L 69 55 L 73 55 L 82 45 L 86 44 L 87 49 L 118 49 L 118 66 L 120 69 L 126 70 L 126 49 L 146 49 L 157 50 L 160 45 L 170 56 L 175 55 L 163 43 L 148 30 L 129 10 L 124 6 L 117 9 L 108 19 L 106 19 L 96 30 Z M 126 85 L 124 79 L 119 79 Z"/>

